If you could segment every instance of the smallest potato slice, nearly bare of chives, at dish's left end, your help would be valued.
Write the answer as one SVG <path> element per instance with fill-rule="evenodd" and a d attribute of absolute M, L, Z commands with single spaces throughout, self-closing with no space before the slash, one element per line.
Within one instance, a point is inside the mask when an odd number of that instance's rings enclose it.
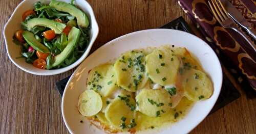
<path fill-rule="evenodd" d="M 83 91 L 78 100 L 78 111 L 83 116 L 96 115 L 102 108 L 102 100 L 94 90 Z"/>

